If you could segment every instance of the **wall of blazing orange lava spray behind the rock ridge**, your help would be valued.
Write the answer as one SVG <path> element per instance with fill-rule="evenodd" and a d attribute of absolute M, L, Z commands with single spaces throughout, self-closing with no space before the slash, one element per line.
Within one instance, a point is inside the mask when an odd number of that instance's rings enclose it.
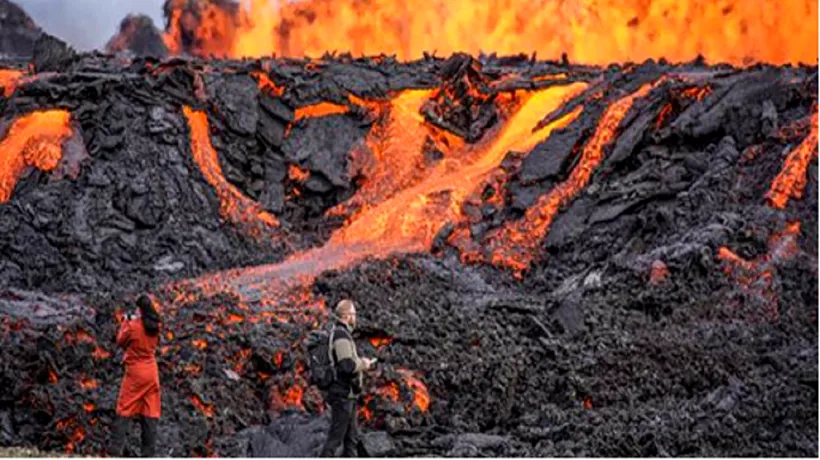
<path fill-rule="evenodd" d="M 194 3 L 194 7 L 184 8 Z M 399 59 L 468 52 L 566 53 L 588 64 L 665 57 L 747 65 L 817 62 L 812 0 L 175 0 L 166 44 L 199 56 Z"/>

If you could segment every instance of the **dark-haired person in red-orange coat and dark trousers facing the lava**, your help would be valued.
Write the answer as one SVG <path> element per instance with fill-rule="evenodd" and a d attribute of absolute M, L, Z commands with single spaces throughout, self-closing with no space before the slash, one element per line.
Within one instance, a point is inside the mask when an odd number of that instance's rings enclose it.
<path fill-rule="evenodd" d="M 159 370 L 154 354 L 159 344 L 160 318 L 148 296 L 137 299 L 139 315 L 126 318 L 117 333 L 117 346 L 125 349 L 125 377 L 117 399 L 117 420 L 111 453 L 123 456 L 130 422 L 142 428 L 142 456 L 155 457 L 160 416 Z"/>

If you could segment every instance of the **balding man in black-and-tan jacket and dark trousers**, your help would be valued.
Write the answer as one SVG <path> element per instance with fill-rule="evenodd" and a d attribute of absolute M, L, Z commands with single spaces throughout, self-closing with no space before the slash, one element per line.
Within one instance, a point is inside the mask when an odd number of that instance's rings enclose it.
<path fill-rule="evenodd" d="M 338 324 L 334 329 L 331 351 L 336 379 L 327 394 L 331 421 L 322 457 L 335 456 L 340 445 L 343 456 L 355 457 L 359 443 L 356 399 L 362 392 L 363 372 L 370 369 L 376 360 L 360 358 L 356 350 L 352 335 L 356 327 L 356 305 L 350 300 L 342 300 L 334 312 Z"/>

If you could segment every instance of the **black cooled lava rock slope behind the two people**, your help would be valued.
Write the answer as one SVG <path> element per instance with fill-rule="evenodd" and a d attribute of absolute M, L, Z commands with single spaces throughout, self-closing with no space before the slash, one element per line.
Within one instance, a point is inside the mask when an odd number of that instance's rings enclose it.
<path fill-rule="evenodd" d="M 75 173 L 28 168 L 0 204 L 0 445 L 104 453 L 118 313 L 149 291 L 166 318 L 163 455 L 315 454 L 327 415 L 304 386 L 301 345 L 341 296 L 361 305 L 360 348 L 382 362 L 360 414 L 370 454 L 817 455 L 816 147 L 802 197 L 781 209 L 768 194 L 789 152 L 816 139 L 816 68 L 161 63 L 43 41 L 35 62 L 43 73 L 0 99 L 0 139 L 21 115 L 68 110 L 75 134 L 57 171 Z M 328 244 L 350 217 L 328 210 L 367 180 L 351 152 L 380 123 L 349 95 L 443 85 L 452 97 L 428 121 L 481 138 L 504 124 L 499 94 L 573 81 L 589 82 L 580 102 L 543 116 L 582 104 L 580 115 L 508 155 L 501 196 L 442 222 L 432 253 L 262 298 L 177 283 Z M 467 228 L 477 247 L 498 244 L 584 167 L 607 109 L 655 82 L 589 185 L 528 235 L 538 244 L 520 276 L 448 237 Z M 344 113 L 300 115 L 321 102 Z M 226 217 L 183 106 L 207 112 L 225 179 L 278 227 Z"/>

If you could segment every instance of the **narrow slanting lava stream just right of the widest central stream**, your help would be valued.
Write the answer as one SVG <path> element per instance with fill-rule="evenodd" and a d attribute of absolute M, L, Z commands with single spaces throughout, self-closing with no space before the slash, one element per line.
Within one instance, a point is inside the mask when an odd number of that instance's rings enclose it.
<path fill-rule="evenodd" d="M 492 262 L 496 266 L 512 269 L 516 274 L 529 268 L 537 253 L 541 238 L 549 231 L 552 220 L 561 206 L 572 200 L 587 183 L 595 168 L 604 158 L 603 149 L 615 138 L 616 130 L 635 99 L 646 96 L 654 84 L 645 84 L 634 93 L 610 105 L 598 124 L 595 134 L 584 146 L 578 165 L 562 182 L 546 195 L 542 195 L 527 210 L 523 219 L 505 225 L 490 237 Z"/>

